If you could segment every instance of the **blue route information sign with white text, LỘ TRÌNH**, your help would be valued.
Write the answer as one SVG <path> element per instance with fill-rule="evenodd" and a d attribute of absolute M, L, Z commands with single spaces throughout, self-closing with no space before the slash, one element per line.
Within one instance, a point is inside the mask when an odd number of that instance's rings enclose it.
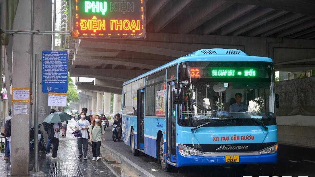
<path fill-rule="evenodd" d="M 43 50 L 42 92 L 66 93 L 68 91 L 68 52 Z"/>

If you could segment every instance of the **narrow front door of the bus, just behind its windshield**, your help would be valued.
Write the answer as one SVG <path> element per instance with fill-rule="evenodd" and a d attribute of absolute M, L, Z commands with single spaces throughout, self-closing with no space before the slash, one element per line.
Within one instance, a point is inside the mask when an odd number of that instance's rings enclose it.
<path fill-rule="evenodd" d="M 167 89 L 167 160 L 176 163 L 176 106 L 173 104 L 172 91 L 175 88 L 175 81 L 168 83 Z"/>

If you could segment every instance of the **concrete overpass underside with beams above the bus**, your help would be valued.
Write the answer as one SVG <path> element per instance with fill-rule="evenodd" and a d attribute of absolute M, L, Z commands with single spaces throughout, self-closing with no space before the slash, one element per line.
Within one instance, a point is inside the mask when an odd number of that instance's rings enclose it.
<path fill-rule="evenodd" d="M 309 0 L 146 0 L 144 40 L 70 42 L 78 88 L 121 94 L 122 83 L 203 48 L 271 57 L 276 71 L 315 66 L 315 4 Z"/>

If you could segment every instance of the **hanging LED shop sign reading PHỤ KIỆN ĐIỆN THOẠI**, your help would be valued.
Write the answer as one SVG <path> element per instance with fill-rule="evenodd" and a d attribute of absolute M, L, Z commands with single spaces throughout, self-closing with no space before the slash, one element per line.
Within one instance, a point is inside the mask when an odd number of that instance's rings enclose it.
<path fill-rule="evenodd" d="M 73 31 L 79 38 L 145 38 L 143 0 L 75 0 Z"/>

